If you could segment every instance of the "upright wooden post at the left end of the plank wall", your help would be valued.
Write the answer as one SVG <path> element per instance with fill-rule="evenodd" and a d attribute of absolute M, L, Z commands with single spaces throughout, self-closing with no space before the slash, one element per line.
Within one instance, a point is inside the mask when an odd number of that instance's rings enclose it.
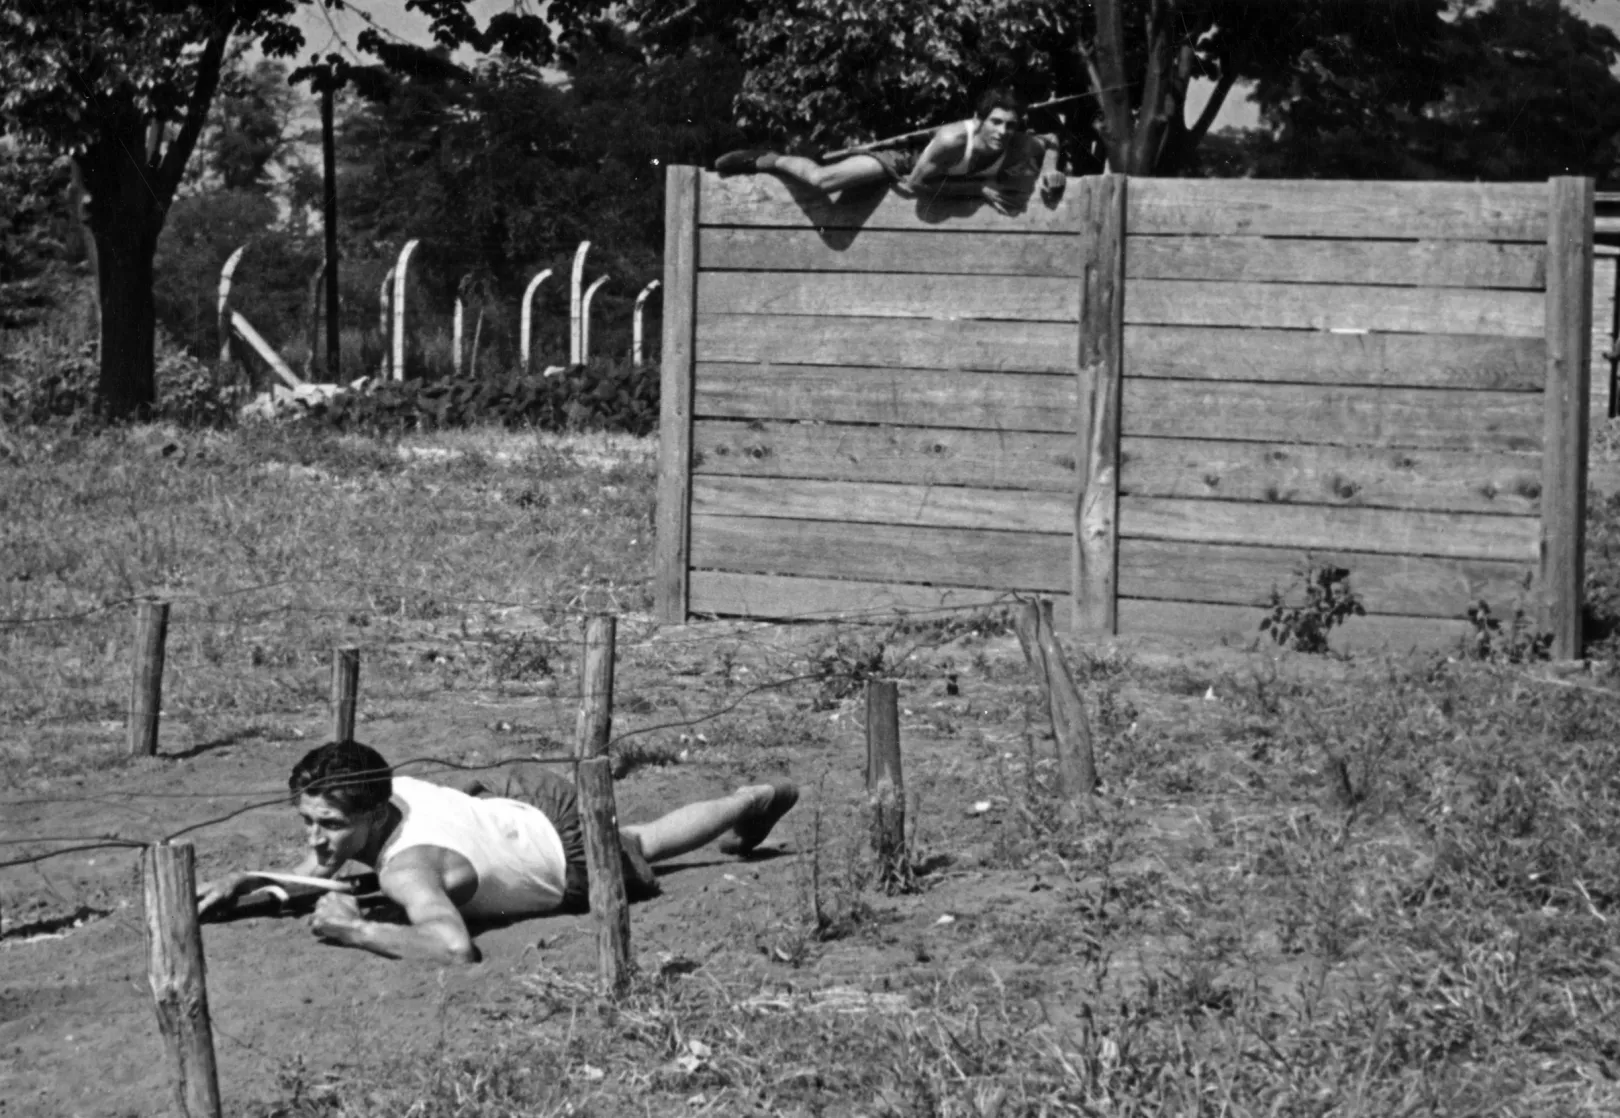
<path fill-rule="evenodd" d="M 658 420 L 658 541 L 653 591 L 661 621 L 687 617 L 692 502 L 692 358 L 697 326 L 698 169 L 664 178 L 664 356 Z"/>

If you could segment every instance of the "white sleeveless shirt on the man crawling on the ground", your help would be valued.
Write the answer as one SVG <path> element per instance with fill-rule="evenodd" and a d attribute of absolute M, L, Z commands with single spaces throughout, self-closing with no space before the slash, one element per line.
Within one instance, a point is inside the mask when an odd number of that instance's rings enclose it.
<path fill-rule="evenodd" d="M 394 778 L 394 805 L 400 823 L 377 856 L 379 873 L 413 846 L 439 846 L 478 872 L 478 891 L 458 906 L 463 915 L 538 915 L 562 903 L 562 839 L 538 807 L 478 799 L 410 776 Z"/>

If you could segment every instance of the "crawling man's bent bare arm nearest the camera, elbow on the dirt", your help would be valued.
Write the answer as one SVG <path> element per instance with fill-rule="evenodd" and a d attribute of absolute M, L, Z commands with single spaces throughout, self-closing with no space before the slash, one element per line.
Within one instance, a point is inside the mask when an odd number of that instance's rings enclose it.
<path fill-rule="evenodd" d="M 403 851 L 382 872 L 381 885 L 382 893 L 405 909 L 410 925 L 366 920 L 360 915 L 355 898 L 329 893 L 316 904 L 311 930 L 322 940 L 363 948 L 390 959 L 478 962 L 478 948 L 455 901 L 450 899 L 444 867 L 434 856 L 434 847 Z M 470 894 L 473 890 L 476 881 L 457 891 Z"/>

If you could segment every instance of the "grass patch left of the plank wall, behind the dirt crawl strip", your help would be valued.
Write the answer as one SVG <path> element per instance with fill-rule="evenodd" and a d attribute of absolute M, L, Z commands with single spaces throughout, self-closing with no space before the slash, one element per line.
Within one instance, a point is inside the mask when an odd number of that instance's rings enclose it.
<path fill-rule="evenodd" d="M 264 426 L 11 431 L 5 446 L 0 721 L 16 729 L 0 773 L 13 779 L 113 760 L 144 595 L 172 603 L 165 713 L 202 739 L 319 702 L 334 645 L 363 646 L 376 698 L 454 690 L 510 669 L 565 614 L 650 604 L 646 442 Z"/>

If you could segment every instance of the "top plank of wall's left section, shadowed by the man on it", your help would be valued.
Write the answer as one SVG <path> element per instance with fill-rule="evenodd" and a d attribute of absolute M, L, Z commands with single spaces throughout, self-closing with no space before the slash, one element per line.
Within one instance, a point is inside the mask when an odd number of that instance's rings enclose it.
<path fill-rule="evenodd" d="M 885 183 L 846 190 L 833 198 L 776 175 L 721 178 L 705 172 L 698 185 L 698 224 L 828 230 L 831 243 L 842 240 L 831 230 L 849 230 L 850 238 L 872 228 L 1061 233 L 1077 228 L 1077 194 L 1064 191 L 1055 207 L 1034 199 L 1024 212 L 1004 215 L 988 203 L 970 198 L 940 203 L 901 198 Z"/>

